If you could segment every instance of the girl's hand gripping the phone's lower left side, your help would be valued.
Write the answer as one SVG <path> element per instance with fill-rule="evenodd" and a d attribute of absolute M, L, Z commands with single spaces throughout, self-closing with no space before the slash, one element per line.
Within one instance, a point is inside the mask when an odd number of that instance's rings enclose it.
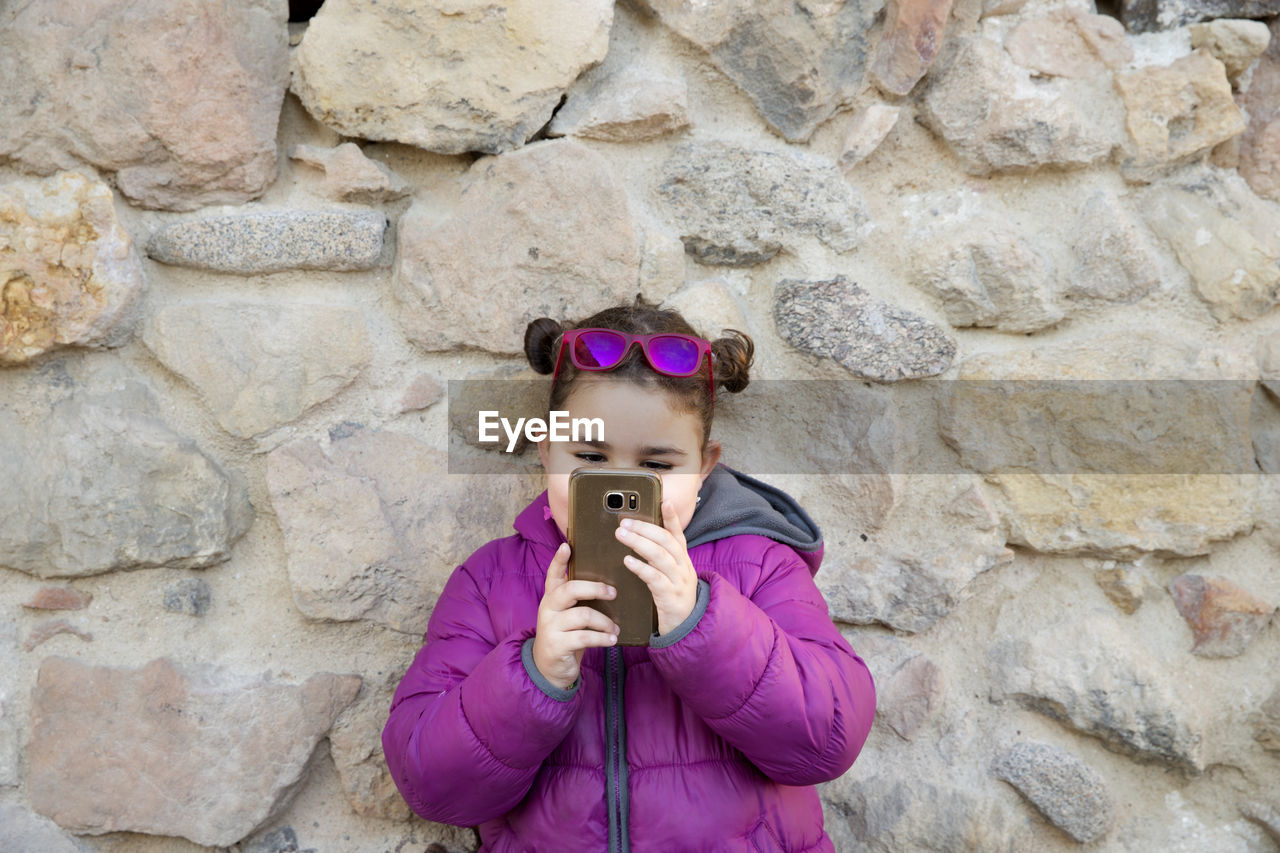
<path fill-rule="evenodd" d="M 612 619 L 577 603 L 613 598 L 617 590 L 594 580 L 570 580 L 568 555 L 568 543 L 562 543 L 547 567 L 534 635 L 534 665 L 548 681 L 566 690 L 577 680 L 585 649 L 618 642 L 618 626 Z"/>

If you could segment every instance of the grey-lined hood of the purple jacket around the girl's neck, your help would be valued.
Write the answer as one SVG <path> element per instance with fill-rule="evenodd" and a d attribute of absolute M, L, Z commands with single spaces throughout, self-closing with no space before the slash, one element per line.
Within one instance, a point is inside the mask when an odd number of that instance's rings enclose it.
<path fill-rule="evenodd" d="M 768 537 L 790 546 L 810 574 L 822 564 L 822 530 L 796 500 L 782 489 L 754 476 L 717 465 L 703 482 L 701 501 L 685 528 L 689 548 L 742 533 Z M 512 525 L 526 539 L 552 548 L 564 542 L 556 526 L 544 491 L 526 506 Z"/>

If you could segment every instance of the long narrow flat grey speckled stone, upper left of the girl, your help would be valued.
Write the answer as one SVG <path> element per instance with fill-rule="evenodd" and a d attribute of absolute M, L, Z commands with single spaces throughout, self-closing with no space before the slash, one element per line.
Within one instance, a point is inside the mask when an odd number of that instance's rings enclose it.
<path fill-rule="evenodd" d="M 387 216 L 376 210 L 273 210 L 164 225 L 147 255 L 164 264 L 255 275 L 291 269 L 372 269 Z"/>

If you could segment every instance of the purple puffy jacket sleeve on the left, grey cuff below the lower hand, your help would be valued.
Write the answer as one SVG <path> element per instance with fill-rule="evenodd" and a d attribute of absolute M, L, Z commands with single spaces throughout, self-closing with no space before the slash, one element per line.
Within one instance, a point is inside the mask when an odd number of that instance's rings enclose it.
<path fill-rule="evenodd" d="M 383 729 L 392 779 L 421 817 L 475 826 L 506 815 L 572 729 L 581 690 L 538 674 L 532 633 L 495 638 L 471 571 L 449 578 Z"/>

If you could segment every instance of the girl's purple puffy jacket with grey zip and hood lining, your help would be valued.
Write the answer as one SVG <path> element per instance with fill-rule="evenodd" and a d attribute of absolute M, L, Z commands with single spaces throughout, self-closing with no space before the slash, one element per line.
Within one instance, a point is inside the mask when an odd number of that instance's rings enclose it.
<path fill-rule="evenodd" d="M 694 612 L 648 648 L 586 649 L 568 690 L 531 657 L 564 540 L 545 492 L 516 535 L 453 573 L 383 730 L 415 812 L 477 825 L 494 853 L 833 850 L 813 785 L 861 749 L 872 676 L 813 581 L 817 526 L 778 489 L 723 466 L 713 476 L 719 500 L 685 532 Z M 744 488 L 759 506 L 741 508 Z M 812 526 L 815 548 L 742 533 L 804 539 L 783 514 Z"/>

